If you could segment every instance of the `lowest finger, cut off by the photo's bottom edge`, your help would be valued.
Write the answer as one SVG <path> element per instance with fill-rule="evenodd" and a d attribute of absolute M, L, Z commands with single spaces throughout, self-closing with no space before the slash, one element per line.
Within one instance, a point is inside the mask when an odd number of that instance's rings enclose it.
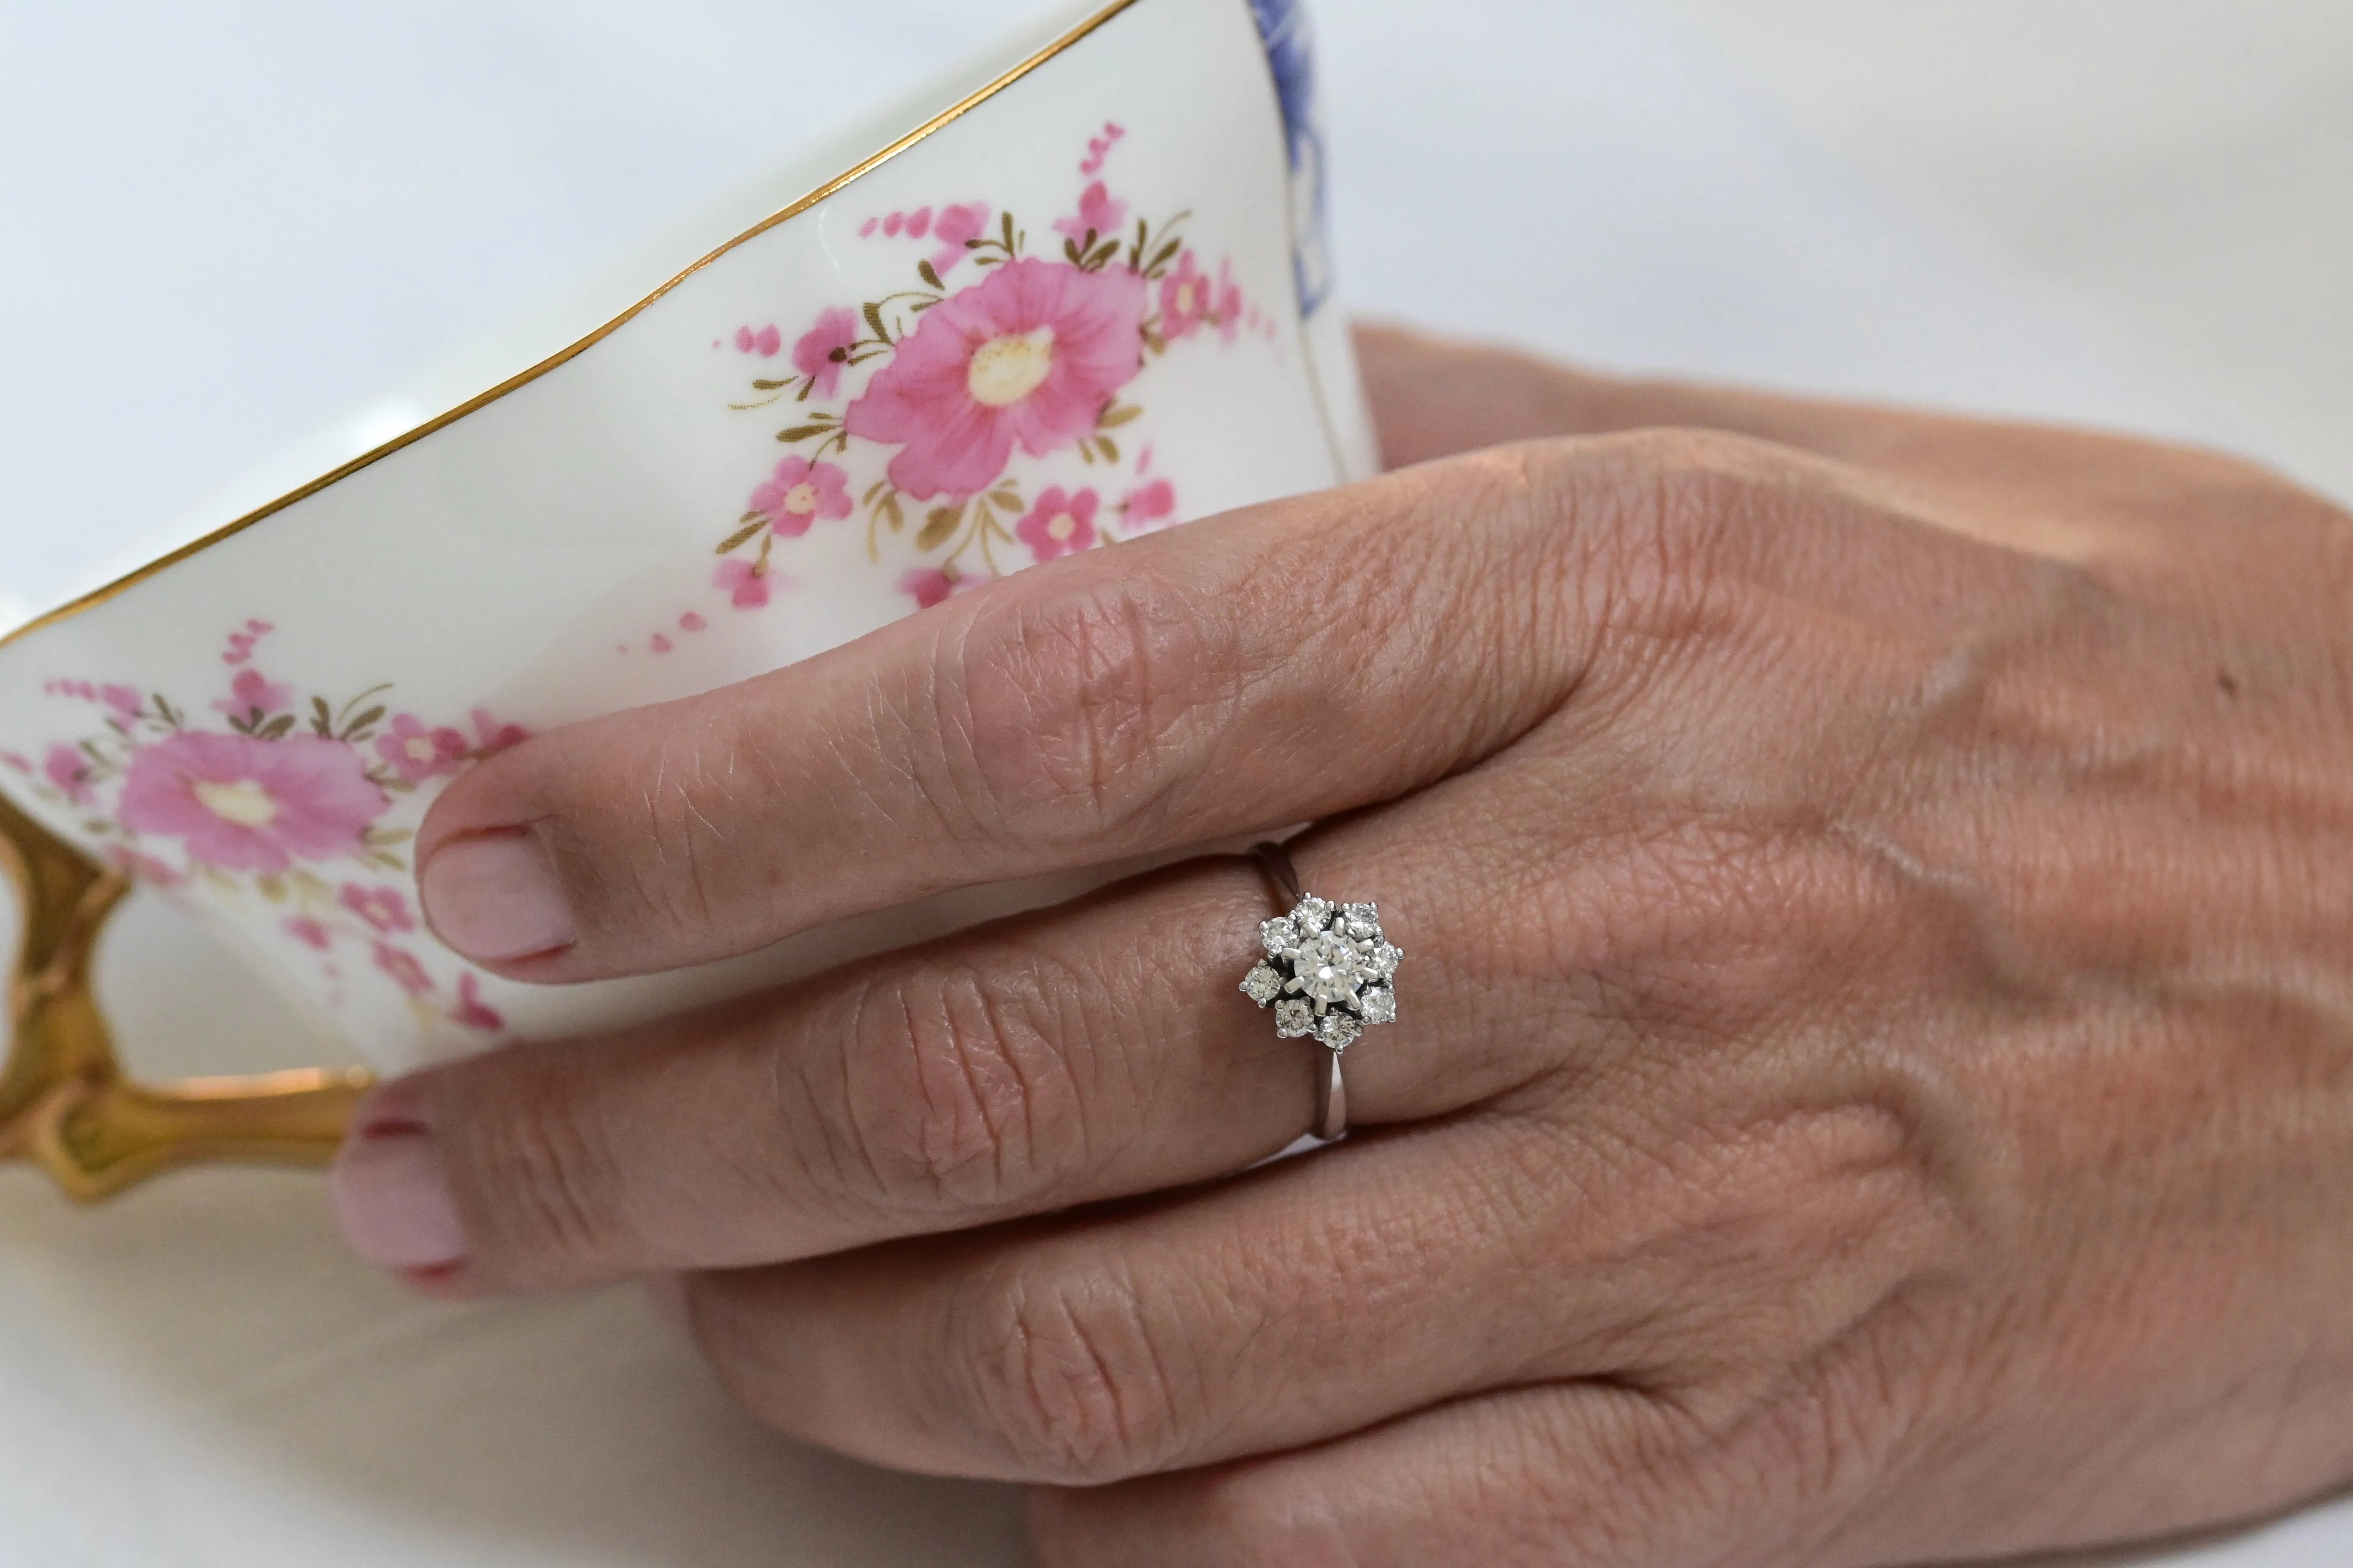
<path fill-rule="evenodd" d="M 1304 1453 L 1031 1493 L 1038 1568 L 1795 1568 L 1777 1497 L 1638 1389 L 1440 1406 Z"/>

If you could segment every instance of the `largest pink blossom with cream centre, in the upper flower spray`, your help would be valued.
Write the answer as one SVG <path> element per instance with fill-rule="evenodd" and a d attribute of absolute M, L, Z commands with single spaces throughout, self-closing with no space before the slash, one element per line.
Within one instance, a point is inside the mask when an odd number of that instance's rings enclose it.
<path fill-rule="evenodd" d="M 1042 458 L 1094 433 L 1144 367 L 1141 322 L 1136 273 L 1009 261 L 925 310 L 842 428 L 901 447 L 889 480 L 908 496 L 972 496 L 1014 444 Z"/>

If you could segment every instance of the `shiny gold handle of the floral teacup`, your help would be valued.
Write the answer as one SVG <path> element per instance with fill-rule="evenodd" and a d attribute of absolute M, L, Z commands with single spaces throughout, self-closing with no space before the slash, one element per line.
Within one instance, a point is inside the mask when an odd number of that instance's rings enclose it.
<path fill-rule="evenodd" d="M 122 872 L 73 849 L 0 795 L 0 863 L 24 907 L 0 1067 L 0 1159 L 31 1159 L 80 1201 L 184 1164 L 322 1166 L 369 1084 L 360 1070 L 271 1072 L 146 1086 L 125 1077 L 89 985 Z"/>

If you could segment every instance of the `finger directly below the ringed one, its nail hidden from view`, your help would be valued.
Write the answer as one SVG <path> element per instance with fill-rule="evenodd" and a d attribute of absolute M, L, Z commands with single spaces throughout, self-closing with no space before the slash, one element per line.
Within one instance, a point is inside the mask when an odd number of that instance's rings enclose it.
<path fill-rule="evenodd" d="M 1701 1140 L 1628 1140 L 1635 1114 L 1546 1124 L 1504 1103 L 1148 1206 L 701 1274 L 692 1321 L 729 1389 L 793 1436 L 1094 1486 L 1527 1382 L 1737 1399 L 1739 1368 L 1802 1361 L 1911 1267 L 1894 1248 L 1831 1267 L 1885 1220 L 1824 1166 L 1854 1138 L 1744 1150 L 1744 1173 L 1779 1166 L 1779 1213 L 1762 1180 L 1708 1171 L 1722 1152 Z"/>

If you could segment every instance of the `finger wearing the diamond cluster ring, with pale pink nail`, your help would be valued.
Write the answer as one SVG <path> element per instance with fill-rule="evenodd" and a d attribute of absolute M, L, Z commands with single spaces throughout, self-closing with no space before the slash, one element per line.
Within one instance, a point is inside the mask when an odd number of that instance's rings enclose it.
<path fill-rule="evenodd" d="M 1311 870 L 1325 872 L 1315 860 Z M 1398 856 L 1329 886 L 1435 889 Z M 699 1018 L 452 1063 L 362 1105 L 346 1234 L 435 1288 L 572 1286 L 807 1258 L 1193 1182 L 1313 1121 L 1320 1046 L 1240 994 L 1271 898 L 1200 860 Z M 1412 961 L 1407 1020 L 1452 1020 L 1447 1072 L 1360 1048 L 1355 1117 L 1442 1114 L 1525 1072 L 1520 992 Z M 1431 1030 L 1426 1048 L 1445 1034 Z"/>

